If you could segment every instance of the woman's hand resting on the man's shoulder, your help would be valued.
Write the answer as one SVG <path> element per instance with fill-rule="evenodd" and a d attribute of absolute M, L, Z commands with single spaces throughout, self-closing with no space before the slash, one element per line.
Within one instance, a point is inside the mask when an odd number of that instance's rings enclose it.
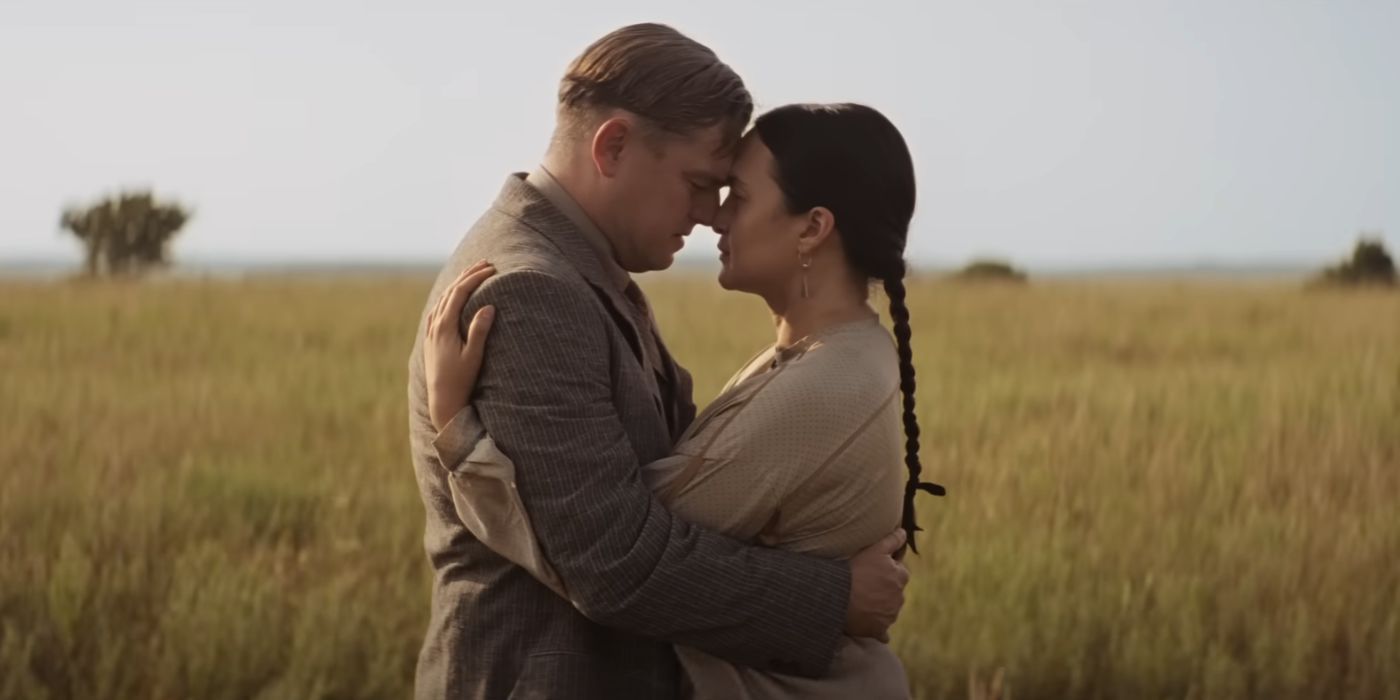
<path fill-rule="evenodd" d="M 428 312 L 427 337 L 423 342 L 423 367 L 428 385 L 428 417 L 433 427 L 441 433 L 452 417 L 466 407 L 476 388 L 476 377 L 482 372 L 486 356 L 486 335 L 496 318 L 494 307 L 482 307 L 472 316 L 462 342 L 462 308 L 466 300 L 482 286 L 496 267 L 486 260 L 462 270 L 456 280 L 442 291 L 437 305 Z"/>

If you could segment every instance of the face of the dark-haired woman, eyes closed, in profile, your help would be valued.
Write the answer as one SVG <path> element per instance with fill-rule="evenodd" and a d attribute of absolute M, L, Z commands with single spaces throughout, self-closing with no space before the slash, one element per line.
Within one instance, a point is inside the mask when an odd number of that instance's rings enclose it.
<path fill-rule="evenodd" d="M 773 165 L 763 140 L 753 132 L 745 136 L 713 227 L 720 234 L 720 286 L 770 301 L 784 298 L 801 272 L 798 237 L 806 225 L 788 213 Z"/>

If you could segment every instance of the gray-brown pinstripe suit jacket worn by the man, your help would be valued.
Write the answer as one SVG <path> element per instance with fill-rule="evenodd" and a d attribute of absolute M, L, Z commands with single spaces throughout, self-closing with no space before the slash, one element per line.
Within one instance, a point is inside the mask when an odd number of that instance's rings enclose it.
<path fill-rule="evenodd" d="M 515 461 L 521 500 L 573 601 L 472 536 L 433 445 L 423 319 L 477 259 L 498 272 L 463 311 L 497 308 L 473 405 Z M 641 482 L 638 465 L 671 451 L 694 406 L 689 375 L 664 346 L 666 367 L 645 375 L 624 304 L 582 234 L 522 175 L 507 179 L 442 267 L 409 361 L 409 434 L 434 568 L 417 697 L 673 697 L 671 641 L 809 676 L 829 665 L 847 564 L 692 526 Z M 658 381 L 671 385 L 669 410 Z"/>

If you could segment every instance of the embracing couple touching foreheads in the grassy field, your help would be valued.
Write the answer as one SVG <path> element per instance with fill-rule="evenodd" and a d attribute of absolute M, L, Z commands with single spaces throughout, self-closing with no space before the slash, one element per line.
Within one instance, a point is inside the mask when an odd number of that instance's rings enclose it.
<path fill-rule="evenodd" d="M 909 696 L 886 633 L 914 494 L 942 493 L 914 419 L 913 164 L 867 106 L 752 116 L 706 46 L 617 29 L 442 269 L 409 379 L 420 699 Z M 630 279 L 696 224 L 776 326 L 699 414 Z"/>

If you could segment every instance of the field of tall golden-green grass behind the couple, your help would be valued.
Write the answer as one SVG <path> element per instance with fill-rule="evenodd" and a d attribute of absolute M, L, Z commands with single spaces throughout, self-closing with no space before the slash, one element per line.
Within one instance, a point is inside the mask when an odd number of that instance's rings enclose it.
<path fill-rule="evenodd" d="M 428 283 L 0 283 L 0 697 L 406 697 Z M 648 287 L 701 403 L 769 340 L 750 298 Z M 1400 697 L 1400 294 L 910 301 L 949 489 L 895 630 L 916 696 Z"/>

